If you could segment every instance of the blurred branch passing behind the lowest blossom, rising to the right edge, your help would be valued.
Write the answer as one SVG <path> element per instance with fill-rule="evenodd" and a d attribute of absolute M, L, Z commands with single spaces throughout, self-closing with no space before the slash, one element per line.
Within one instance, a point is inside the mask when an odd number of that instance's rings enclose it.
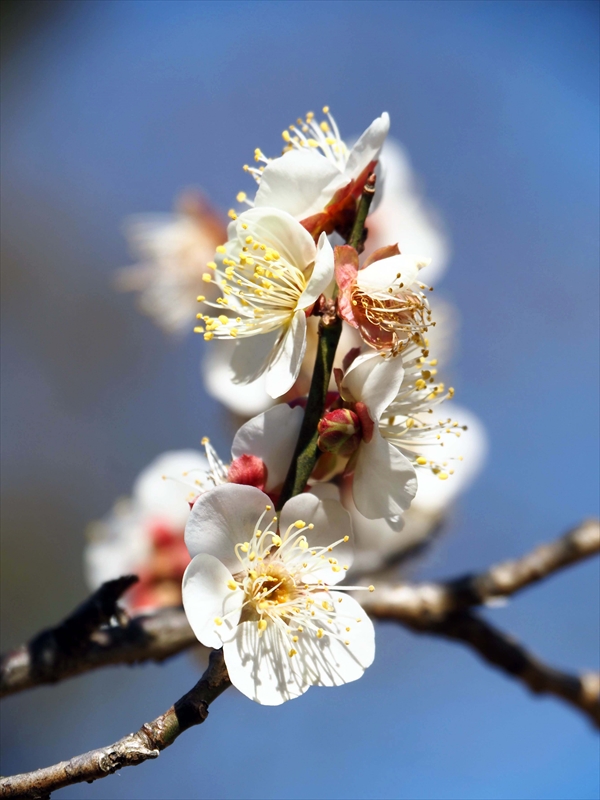
<path fill-rule="evenodd" d="M 492 567 L 479 575 L 470 575 L 443 583 L 378 585 L 377 591 L 361 598 L 365 609 L 380 619 L 393 619 L 409 628 L 424 625 L 430 628 L 449 614 L 464 611 L 495 598 L 508 596 L 530 586 L 558 570 L 600 551 L 600 524 L 588 520 L 561 538 L 543 544 L 514 561 Z M 130 580 L 130 579 L 126 579 Z M 113 583 L 111 581 L 110 586 Z M 100 590 L 99 590 L 100 591 Z M 95 605 L 97 592 L 68 618 L 76 617 L 82 608 Z M 110 615 L 109 617 L 110 618 Z M 107 619 L 108 619 L 107 618 Z M 143 614 L 117 627 L 95 630 L 85 636 L 77 652 L 51 652 L 40 669 L 38 641 L 55 641 L 54 631 L 38 634 L 29 644 L 6 654 L 0 661 L 0 697 L 44 683 L 54 683 L 113 664 L 137 664 L 143 661 L 164 661 L 197 644 L 181 608 L 165 608 Z M 435 632 L 435 631 L 432 631 Z M 61 637 L 58 637 L 62 641 Z M 577 679 L 576 679 L 577 680 Z"/>

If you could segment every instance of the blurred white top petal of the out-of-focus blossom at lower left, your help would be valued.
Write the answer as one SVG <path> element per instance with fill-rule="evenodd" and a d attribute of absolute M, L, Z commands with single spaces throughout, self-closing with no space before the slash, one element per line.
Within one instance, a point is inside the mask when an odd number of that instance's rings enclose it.
<path fill-rule="evenodd" d="M 172 450 L 155 458 L 140 474 L 132 497 L 142 513 L 173 527 L 183 526 L 190 513 L 189 502 L 208 481 L 206 456 L 196 450 Z M 198 488 L 191 484 L 200 481 Z"/>

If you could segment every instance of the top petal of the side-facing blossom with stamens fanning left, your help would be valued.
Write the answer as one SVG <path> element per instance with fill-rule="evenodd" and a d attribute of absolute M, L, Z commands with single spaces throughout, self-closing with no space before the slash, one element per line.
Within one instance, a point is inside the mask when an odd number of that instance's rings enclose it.
<path fill-rule="evenodd" d="M 241 241 L 252 235 L 256 242 L 277 250 L 282 259 L 299 269 L 304 270 L 315 260 L 316 246 L 312 236 L 285 211 L 278 208 L 251 208 L 240 214 L 236 225 Z M 243 228 L 242 225 L 248 227 Z"/>

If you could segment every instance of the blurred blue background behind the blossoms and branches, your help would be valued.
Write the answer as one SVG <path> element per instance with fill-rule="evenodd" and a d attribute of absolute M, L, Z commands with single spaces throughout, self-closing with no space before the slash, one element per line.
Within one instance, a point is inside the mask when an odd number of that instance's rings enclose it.
<path fill-rule="evenodd" d="M 111 286 L 123 217 L 185 186 L 222 208 L 254 147 L 328 103 L 382 110 L 453 241 L 456 386 L 485 473 L 418 575 L 518 555 L 596 514 L 596 2 L 6 3 L 2 109 L 3 646 L 86 593 L 86 523 L 157 453 L 232 430 L 200 337 Z M 215 418 L 220 421 L 215 430 Z M 486 611 L 543 659 L 598 668 L 598 563 Z M 4 701 L 2 772 L 96 747 L 196 679 L 183 656 Z M 156 762 L 64 798 L 596 798 L 598 740 L 470 652 L 392 625 L 358 683 L 278 709 L 234 691 Z"/>

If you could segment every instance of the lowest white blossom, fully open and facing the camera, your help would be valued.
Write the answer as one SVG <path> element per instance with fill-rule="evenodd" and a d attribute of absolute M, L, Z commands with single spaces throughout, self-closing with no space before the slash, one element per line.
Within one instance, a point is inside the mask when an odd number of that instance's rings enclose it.
<path fill-rule="evenodd" d="M 200 642 L 223 647 L 231 682 L 255 702 L 339 686 L 372 663 L 373 625 L 344 593 L 363 587 L 337 587 L 351 564 L 349 531 L 338 502 L 311 494 L 288 500 L 279 519 L 252 486 L 218 486 L 194 504 L 185 612 Z"/>

